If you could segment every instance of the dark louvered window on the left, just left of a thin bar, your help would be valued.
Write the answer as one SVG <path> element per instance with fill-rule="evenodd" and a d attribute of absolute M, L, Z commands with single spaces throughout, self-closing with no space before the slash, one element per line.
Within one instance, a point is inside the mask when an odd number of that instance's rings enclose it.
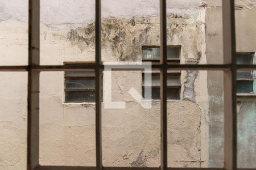
<path fill-rule="evenodd" d="M 64 91 L 65 103 L 94 103 L 94 71 L 66 71 Z"/>

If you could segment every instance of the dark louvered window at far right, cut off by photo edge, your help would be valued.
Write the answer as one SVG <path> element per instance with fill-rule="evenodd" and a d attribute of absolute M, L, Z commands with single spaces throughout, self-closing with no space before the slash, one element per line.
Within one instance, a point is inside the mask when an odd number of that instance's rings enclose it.
<path fill-rule="evenodd" d="M 255 53 L 237 53 L 237 64 L 251 65 Z M 237 71 L 237 94 L 254 94 L 254 71 Z"/>

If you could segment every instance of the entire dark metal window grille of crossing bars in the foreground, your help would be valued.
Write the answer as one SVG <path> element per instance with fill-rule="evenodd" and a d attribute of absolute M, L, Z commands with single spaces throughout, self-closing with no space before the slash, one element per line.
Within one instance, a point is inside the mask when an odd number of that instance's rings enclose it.
<path fill-rule="evenodd" d="M 166 0 L 160 0 L 160 69 L 161 149 L 159 168 L 103 167 L 101 147 L 101 0 L 96 0 L 96 62 L 83 65 L 40 65 L 40 0 L 29 0 L 28 65 L 0 66 L 0 71 L 27 71 L 28 73 L 28 125 L 27 169 L 237 169 L 237 112 L 236 71 L 255 70 L 255 65 L 237 65 L 234 0 L 222 0 L 224 64 L 223 65 L 170 65 L 167 63 Z M 222 70 L 224 71 L 224 168 L 167 168 L 167 69 L 171 70 Z M 39 165 L 39 73 L 40 71 L 84 71 L 96 73 L 96 167 L 64 167 Z M 127 69 L 133 70 L 133 69 Z M 172 153 L 170 153 L 172 154 Z"/>

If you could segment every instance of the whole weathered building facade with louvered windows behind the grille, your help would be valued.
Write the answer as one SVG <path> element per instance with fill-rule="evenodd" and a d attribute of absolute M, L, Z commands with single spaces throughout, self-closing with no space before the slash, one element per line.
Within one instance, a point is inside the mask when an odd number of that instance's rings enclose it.
<path fill-rule="evenodd" d="M 0 0 L 0 65 L 27 65 L 27 3 Z M 94 6 L 88 0 L 41 0 L 41 65 L 94 62 Z M 167 13 L 167 45 L 173 57 L 170 62 L 223 63 L 221 1 L 170 0 Z M 236 1 L 237 52 L 251 53 L 251 63 L 255 61 L 256 51 L 255 14 L 255 0 Z M 101 44 L 103 62 L 147 59 L 158 62 L 159 1 L 102 0 Z M 177 53 L 172 50 L 175 48 Z M 176 97 L 168 100 L 168 165 L 222 167 L 222 71 L 181 70 L 175 74 L 169 71 L 170 96 Z M 88 74 L 40 73 L 40 164 L 96 164 L 93 73 Z M 26 169 L 27 73 L 0 75 L 0 169 Z M 256 166 L 255 75 L 252 71 L 253 91 L 242 91 L 237 97 L 240 167 Z M 79 94 L 86 94 L 88 86 L 84 90 L 77 84 L 88 85 L 84 83 L 88 77 L 92 80 L 90 94 L 86 99 L 82 95 L 79 100 Z M 158 77 L 152 78 L 157 86 Z M 112 72 L 112 101 L 125 101 L 126 108 L 105 109 L 102 101 L 103 165 L 158 167 L 158 87 L 152 90 L 155 99 L 151 109 L 137 103 L 129 94 L 131 88 L 143 94 L 142 71 Z"/>

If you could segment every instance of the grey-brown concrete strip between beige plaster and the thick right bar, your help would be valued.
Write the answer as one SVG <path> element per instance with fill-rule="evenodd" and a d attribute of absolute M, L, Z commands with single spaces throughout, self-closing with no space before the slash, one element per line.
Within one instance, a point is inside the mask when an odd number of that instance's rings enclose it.
<path fill-rule="evenodd" d="M 205 39 L 207 62 L 223 63 L 222 12 L 220 7 L 207 8 L 205 14 Z M 209 99 L 209 167 L 223 167 L 224 94 L 222 71 L 208 71 Z"/>

